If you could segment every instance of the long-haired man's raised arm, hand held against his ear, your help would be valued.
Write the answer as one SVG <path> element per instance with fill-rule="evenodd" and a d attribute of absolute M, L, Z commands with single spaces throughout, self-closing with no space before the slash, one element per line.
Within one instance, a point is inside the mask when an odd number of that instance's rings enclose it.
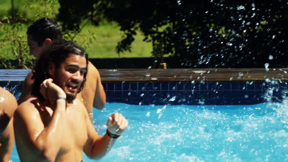
<path fill-rule="evenodd" d="M 61 89 L 52 83 L 51 79 L 45 81 L 43 81 L 43 84 L 45 86 L 49 85 L 48 94 L 54 94 L 57 89 Z M 63 96 L 63 94 L 64 92 L 59 93 L 58 98 L 66 98 L 66 95 Z M 48 95 L 48 98 L 51 101 L 51 96 Z M 27 148 L 33 149 L 41 159 L 54 161 L 64 140 L 62 135 L 65 133 L 63 128 L 65 128 L 66 121 L 66 101 L 56 100 L 52 117 L 47 125 L 43 124 L 39 113 L 39 111 L 45 110 L 38 110 L 41 109 L 41 106 L 36 108 L 37 103 L 33 104 L 32 102 L 35 101 L 25 101 L 17 108 L 14 114 L 15 134 L 20 136 Z"/>

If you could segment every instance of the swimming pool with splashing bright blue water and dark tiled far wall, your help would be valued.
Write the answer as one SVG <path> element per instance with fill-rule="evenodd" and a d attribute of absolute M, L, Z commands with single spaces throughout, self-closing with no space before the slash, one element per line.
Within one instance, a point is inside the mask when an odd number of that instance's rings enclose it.
<path fill-rule="evenodd" d="M 236 81 L 207 81 L 202 73 L 198 81 L 194 74 L 192 81 L 104 80 L 108 103 L 93 110 L 95 129 L 103 135 L 115 111 L 129 126 L 100 162 L 288 161 L 287 72 L 280 71 L 282 79 L 264 81 L 238 71 Z M 19 96 L 21 82 L 5 84 Z M 16 148 L 11 160 L 19 162 Z"/>

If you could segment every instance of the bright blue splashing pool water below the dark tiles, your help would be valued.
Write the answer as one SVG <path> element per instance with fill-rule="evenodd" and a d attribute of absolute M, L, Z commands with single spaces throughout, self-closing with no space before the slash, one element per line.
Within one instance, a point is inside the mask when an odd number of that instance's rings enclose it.
<path fill-rule="evenodd" d="M 113 112 L 129 127 L 100 162 L 288 161 L 288 102 L 237 106 L 107 103 L 94 110 L 105 133 Z M 11 160 L 19 162 L 17 152 Z M 93 162 L 85 155 L 83 162 Z"/>

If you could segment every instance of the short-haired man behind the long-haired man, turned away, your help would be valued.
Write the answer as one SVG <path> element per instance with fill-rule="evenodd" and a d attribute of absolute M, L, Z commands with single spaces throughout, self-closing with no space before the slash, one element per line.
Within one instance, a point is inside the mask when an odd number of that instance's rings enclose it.
<path fill-rule="evenodd" d="M 36 58 L 41 56 L 43 49 L 53 41 L 62 41 L 62 30 L 55 20 L 42 18 L 33 22 L 27 29 L 27 41 L 30 48 L 30 54 Z M 101 77 L 97 68 L 88 61 L 89 70 L 87 72 L 86 84 L 81 92 L 77 95 L 83 101 L 90 119 L 93 118 L 93 107 L 101 110 L 106 103 L 106 94 L 101 82 Z M 31 79 L 32 72 L 30 72 L 24 83 L 21 92 L 21 97 L 18 104 L 31 97 Z"/>

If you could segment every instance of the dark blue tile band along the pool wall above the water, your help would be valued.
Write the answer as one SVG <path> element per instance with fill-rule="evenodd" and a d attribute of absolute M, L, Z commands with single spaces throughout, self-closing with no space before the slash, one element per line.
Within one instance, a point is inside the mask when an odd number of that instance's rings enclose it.
<path fill-rule="evenodd" d="M 21 93 L 22 83 L 0 82 L 0 86 L 14 95 Z M 123 81 L 117 83 L 103 82 L 108 102 L 125 102 L 130 104 L 188 104 L 188 105 L 226 105 L 257 104 L 282 101 L 288 96 L 286 81 L 169 81 L 137 82 Z M 272 96 L 267 96 L 267 90 Z M 265 96 L 266 95 L 266 96 Z"/>

